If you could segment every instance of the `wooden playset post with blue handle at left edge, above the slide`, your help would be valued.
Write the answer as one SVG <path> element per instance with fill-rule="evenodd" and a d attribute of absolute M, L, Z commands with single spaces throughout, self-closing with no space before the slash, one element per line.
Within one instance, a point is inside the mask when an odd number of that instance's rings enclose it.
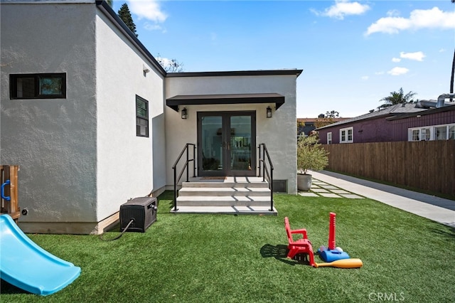
<path fill-rule="evenodd" d="M 21 216 L 18 203 L 17 165 L 0 165 L 1 213 L 8 213 L 16 222 Z"/>

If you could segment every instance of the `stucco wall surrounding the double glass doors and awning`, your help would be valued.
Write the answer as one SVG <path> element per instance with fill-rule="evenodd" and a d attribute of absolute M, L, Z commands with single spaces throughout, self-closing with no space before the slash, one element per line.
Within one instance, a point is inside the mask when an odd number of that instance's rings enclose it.
<path fill-rule="evenodd" d="M 285 96 L 284 105 L 266 118 L 267 106 L 275 105 L 192 105 L 188 119 L 166 107 L 166 167 L 168 186 L 173 185 L 171 166 L 186 143 L 196 143 L 198 111 L 255 110 L 257 144 L 265 143 L 274 164 L 274 179 L 287 180 L 288 192 L 296 193 L 296 75 L 255 75 L 166 78 L 166 98 L 175 95 L 245 94 L 276 92 Z"/>

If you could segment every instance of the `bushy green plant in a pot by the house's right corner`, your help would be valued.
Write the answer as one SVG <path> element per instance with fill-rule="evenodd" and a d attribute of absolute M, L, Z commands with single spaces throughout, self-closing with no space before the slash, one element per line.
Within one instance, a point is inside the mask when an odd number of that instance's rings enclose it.
<path fill-rule="evenodd" d="M 328 165 L 328 151 L 321 147 L 316 135 L 301 136 L 297 141 L 297 189 L 309 191 L 312 171 L 320 171 Z"/>

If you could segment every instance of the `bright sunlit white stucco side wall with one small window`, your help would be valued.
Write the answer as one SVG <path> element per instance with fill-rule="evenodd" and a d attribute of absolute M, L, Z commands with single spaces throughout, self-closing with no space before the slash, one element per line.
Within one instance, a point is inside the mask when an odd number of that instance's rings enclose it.
<path fill-rule="evenodd" d="M 97 220 L 166 185 L 164 78 L 151 66 L 97 14 Z M 136 135 L 136 95 L 149 101 L 148 138 Z"/>

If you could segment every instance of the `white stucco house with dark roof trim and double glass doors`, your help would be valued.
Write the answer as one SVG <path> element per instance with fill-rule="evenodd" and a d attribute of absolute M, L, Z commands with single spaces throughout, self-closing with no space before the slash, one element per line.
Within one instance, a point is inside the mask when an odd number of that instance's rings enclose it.
<path fill-rule="evenodd" d="M 24 232 L 100 233 L 127 199 L 173 188 L 186 143 L 208 177 L 257 176 L 264 143 L 296 193 L 302 70 L 166 73 L 105 1 L 0 11 L 0 163 L 20 166 Z"/>

